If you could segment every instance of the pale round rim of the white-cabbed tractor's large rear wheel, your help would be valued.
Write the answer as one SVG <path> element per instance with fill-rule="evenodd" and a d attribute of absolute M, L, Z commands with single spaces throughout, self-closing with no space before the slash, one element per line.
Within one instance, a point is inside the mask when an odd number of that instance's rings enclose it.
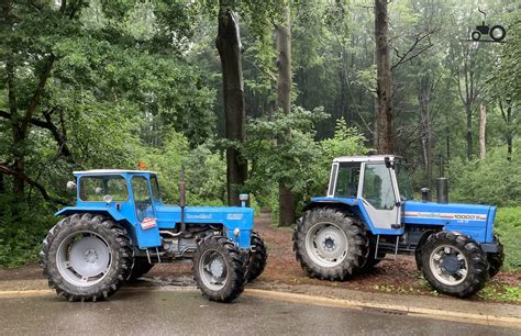
<path fill-rule="evenodd" d="M 308 256 L 321 267 L 335 267 L 347 255 L 347 237 L 333 223 L 317 223 L 306 235 Z"/>

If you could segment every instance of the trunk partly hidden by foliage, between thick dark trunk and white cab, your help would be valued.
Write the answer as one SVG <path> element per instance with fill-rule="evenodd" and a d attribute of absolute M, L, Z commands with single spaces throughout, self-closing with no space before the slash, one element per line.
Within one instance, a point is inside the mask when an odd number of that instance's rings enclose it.
<path fill-rule="evenodd" d="M 291 111 L 291 29 L 288 7 L 284 9 L 284 16 L 285 25 L 276 25 L 275 27 L 278 49 L 277 108 L 288 114 Z M 290 130 L 287 130 L 286 136 L 290 136 Z M 285 142 L 285 139 L 281 139 L 281 142 Z M 288 186 L 288 181 L 279 181 L 278 188 L 278 224 L 279 226 L 289 226 L 296 222 L 295 194 Z"/>

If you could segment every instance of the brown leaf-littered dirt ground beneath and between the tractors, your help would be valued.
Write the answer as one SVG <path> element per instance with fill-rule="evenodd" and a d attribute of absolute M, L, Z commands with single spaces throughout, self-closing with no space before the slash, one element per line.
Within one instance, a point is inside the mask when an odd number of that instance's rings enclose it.
<path fill-rule="evenodd" d="M 370 272 L 359 275 L 345 282 L 311 279 L 300 268 L 295 259 L 291 246 L 292 228 L 274 228 L 267 213 L 262 213 L 255 220 L 255 229 L 264 238 L 268 248 L 268 264 L 260 277 L 251 285 L 260 288 L 280 285 L 324 285 L 346 288 L 365 292 L 407 293 L 418 295 L 439 295 L 422 279 L 415 268 L 413 257 L 398 256 L 397 260 L 384 260 Z M 191 265 L 156 265 L 146 278 L 156 282 L 182 284 L 191 279 Z M 29 265 L 18 269 L 0 268 L 2 280 L 42 279 L 42 270 L 37 265 Z M 188 280 L 189 281 L 189 280 Z M 501 293 L 505 287 L 516 287 L 521 283 L 521 272 L 500 271 L 488 284 L 494 291 Z M 494 295 L 478 294 L 470 300 L 496 301 Z M 499 300 L 501 301 L 501 300 Z M 512 303 L 512 302 L 510 302 Z M 521 302 L 513 302 L 521 304 Z"/>

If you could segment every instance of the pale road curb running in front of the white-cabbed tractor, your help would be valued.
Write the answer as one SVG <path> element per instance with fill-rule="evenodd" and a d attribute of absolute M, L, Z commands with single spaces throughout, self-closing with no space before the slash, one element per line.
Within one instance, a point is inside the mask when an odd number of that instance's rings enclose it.
<path fill-rule="evenodd" d="M 323 296 L 313 296 L 298 293 L 288 293 L 270 290 L 260 290 L 260 289 L 246 289 L 244 294 L 256 298 L 273 299 L 273 300 L 282 300 L 290 301 L 296 303 L 311 303 L 317 305 L 326 305 L 334 307 L 348 307 L 348 309 L 374 309 L 387 312 L 400 312 L 409 316 L 417 317 L 429 317 L 436 320 L 446 320 L 455 322 L 466 322 L 473 324 L 484 324 L 490 326 L 510 326 L 516 328 L 521 328 L 521 318 L 520 317 L 509 317 L 509 316 L 496 316 L 487 314 L 472 314 L 472 313 L 462 313 L 457 311 L 444 311 L 444 310 L 433 310 L 433 309 L 423 309 L 415 307 L 411 305 L 398 305 L 398 304 L 380 304 L 373 302 L 364 302 L 356 300 L 344 300 L 335 298 L 323 298 Z"/>

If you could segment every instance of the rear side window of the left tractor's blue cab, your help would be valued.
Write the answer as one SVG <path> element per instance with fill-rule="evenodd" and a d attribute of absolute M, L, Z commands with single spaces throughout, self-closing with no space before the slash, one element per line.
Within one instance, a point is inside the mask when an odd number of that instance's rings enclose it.
<path fill-rule="evenodd" d="M 79 198 L 84 202 L 103 202 L 106 195 L 113 201 L 129 199 L 126 180 L 122 176 L 82 176 L 79 179 Z"/>

